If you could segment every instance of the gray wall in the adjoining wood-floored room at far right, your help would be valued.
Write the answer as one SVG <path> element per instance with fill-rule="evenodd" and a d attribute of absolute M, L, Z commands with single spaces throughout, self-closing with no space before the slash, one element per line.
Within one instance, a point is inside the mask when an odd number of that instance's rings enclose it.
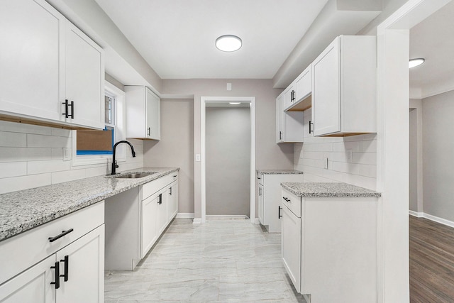
<path fill-rule="evenodd" d="M 423 210 L 454 221 L 454 91 L 423 99 Z"/>

